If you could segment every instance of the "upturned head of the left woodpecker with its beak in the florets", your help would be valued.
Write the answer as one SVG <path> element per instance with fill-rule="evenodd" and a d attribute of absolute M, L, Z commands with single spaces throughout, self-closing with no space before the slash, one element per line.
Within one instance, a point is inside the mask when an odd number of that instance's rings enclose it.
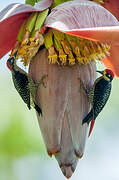
<path fill-rule="evenodd" d="M 17 56 L 17 51 L 14 53 L 14 55 L 12 57 L 10 57 L 8 60 L 7 60 L 7 67 L 10 71 L 13 71 L 14 69 L 14 65 L 16 63 L 16 56 Z"/>

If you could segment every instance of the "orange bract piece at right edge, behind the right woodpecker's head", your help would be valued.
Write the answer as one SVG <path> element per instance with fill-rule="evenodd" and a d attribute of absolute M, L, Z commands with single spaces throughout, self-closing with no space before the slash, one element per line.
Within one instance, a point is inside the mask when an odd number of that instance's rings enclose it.
<path fill-rule="evenodd" d="M 108 69 L 111 69 L 119 77 L 119 46 L 113 45 L 110 49 L 110 56 L 103 60 Z"/>

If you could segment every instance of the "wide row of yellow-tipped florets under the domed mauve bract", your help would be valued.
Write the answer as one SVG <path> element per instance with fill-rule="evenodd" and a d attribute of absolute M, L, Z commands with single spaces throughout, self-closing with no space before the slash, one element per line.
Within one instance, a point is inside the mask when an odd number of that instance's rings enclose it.
<path fill-rule="evenodd" d="M 110 46 L 106 43 L 70 36 L 56 30 L 46 33 L 45 47 L 49 52 L 50 64 L 85 65 L 110 55 Z"/>

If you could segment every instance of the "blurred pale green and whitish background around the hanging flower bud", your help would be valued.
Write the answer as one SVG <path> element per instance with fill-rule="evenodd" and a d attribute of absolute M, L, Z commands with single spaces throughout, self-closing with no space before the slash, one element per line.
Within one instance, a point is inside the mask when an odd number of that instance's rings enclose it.
<path fill-rule="evenodd" d="M 13 2 L 1 1 L 0 10 Z M 7 58 L 0 62 L 0 180 L 64 180 L 56 160 L 46 153 L 35 111 L 28 111 L 13 87 Z M 118 120 L 119 80 L 114 79 L 111 97 L 71 180 L 119 180 Z"/>

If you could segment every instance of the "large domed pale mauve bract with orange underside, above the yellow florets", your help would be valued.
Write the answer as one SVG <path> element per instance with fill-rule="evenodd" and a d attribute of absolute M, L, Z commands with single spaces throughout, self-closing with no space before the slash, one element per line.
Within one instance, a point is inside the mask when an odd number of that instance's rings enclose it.
<path fill-rule="evenodd" d="M 94 2 L 73 1 L 55 7 L 43 30 L 47 27 L 91 40 L 119 42 L 118 20 Z"/>

